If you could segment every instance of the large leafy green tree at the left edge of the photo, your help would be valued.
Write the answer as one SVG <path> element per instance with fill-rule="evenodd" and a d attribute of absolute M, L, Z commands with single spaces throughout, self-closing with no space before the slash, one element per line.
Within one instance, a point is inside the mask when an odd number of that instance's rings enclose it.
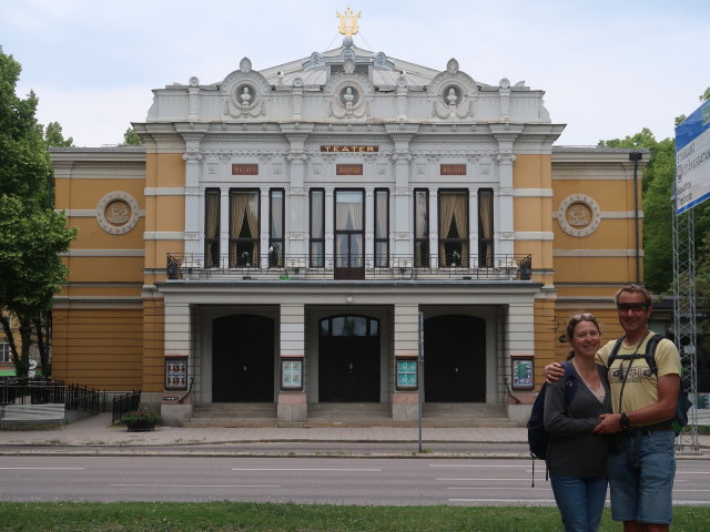
<path fill-rule="evenodd" d="M 53 172 L 36 119 L 38 100 L 33 92 L 26 99 L 16 95 L 21 70 L 0 47 L 0 330 L 16 374 L 27 377 L 32 342 L 49 371 L 44 324 L 68 274 L 58 254 L 69 248 L 77 231 L 52 208 Z M 48 132 L 61 136 L 54 124 Z M 10 318 L 18 324 L 19 346 Z"/>

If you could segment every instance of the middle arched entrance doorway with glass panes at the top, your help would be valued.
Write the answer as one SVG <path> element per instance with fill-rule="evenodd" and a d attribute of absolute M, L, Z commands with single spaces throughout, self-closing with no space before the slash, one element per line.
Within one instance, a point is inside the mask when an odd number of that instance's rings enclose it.
<path fill-rule="evenodd" d="M 318 400 L 379 402 L 379 320 L 334 316 L 318 324 Z"/>

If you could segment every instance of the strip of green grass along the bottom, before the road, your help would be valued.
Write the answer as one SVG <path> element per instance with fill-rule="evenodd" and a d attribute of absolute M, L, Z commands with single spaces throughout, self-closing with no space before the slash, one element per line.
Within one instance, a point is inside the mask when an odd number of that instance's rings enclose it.
<path fill-rule="evenodd" d="M 710 532 L 710 508 L 677 507 L 673 532 Z M 0 503 L 0 531 L 554 532 L 556 508 L 268 503 Z M 621 531 L 608 510 L 600 531 Z"/>

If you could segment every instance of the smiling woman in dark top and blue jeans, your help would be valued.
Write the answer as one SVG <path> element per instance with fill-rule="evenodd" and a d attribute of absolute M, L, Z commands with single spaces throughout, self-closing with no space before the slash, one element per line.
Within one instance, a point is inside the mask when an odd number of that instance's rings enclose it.
<path fill-rule="evenodd" d="M 547 468 L 566 532 L 596 531 L 607 495 L 609 448 L 602 436 L 591 433 L 599 416 L 611 411 L 606 369 L 595 364 L 600 337 L 591 314 L 569 320 L 571 371 L 552 382 L 545 397 L 545 428 L 551 434 Z M 572 385 L 576 391 L 565 405 L 565 387 Z"/>

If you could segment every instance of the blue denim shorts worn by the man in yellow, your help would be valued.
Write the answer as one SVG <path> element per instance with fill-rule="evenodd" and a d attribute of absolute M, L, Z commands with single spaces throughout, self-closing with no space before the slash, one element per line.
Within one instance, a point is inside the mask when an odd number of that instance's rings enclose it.
<path fill-rule="evenodd" d="M 635 463 L 638 460 L 638 463 Z M 676 434 L 660 430 L 623 438 L 623 450 L 607 461 L 611 519 L 670 524 L 676 474 Z"/>

